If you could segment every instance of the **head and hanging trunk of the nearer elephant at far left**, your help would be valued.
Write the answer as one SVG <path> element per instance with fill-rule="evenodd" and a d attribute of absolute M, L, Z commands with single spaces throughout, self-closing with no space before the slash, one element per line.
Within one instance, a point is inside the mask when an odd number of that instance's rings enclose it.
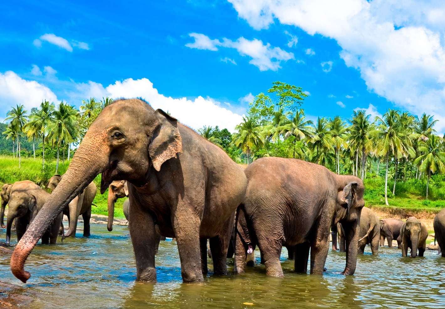
<path fill-rule="evenodd" d="M 6 220 L 6 243 L 11 240 L 12 221 L 15 218 L 29 216 L 32 221 L 37 214 L 36 197 L 23 191 L 12 192 L 8 203 L 8 218 Z"/>

